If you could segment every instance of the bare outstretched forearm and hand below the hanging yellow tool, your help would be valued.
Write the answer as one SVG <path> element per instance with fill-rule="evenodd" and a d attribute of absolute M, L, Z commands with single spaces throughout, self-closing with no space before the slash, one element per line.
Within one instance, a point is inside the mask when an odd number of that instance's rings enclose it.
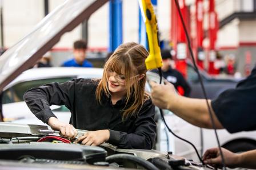
<path fill-rule="evenodd" d="M 154 105 L 161 109 L 172 111 L 174 114 L 178 115 L 178 117 L 185 119 L 185 121 L 195 126 L 213 128 L 205 99 L 179 96 L 175 92 L 175 88 L 172 84 L 167 81 L 165 81 L 165 84 L 166 85 L 159 85 L 155 82 L 150 82 L 152 88 L 151 98 Z M 210 100 L 208 102 L 211 108 Z M 212 108 L 211 113 L 213 113 L 216 128 L 223 128 Z"/>

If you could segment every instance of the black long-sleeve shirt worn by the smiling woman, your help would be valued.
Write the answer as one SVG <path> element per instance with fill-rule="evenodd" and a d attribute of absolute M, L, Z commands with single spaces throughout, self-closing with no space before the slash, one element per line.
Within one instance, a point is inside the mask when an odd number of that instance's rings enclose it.
<path fill-rule="evenodd" d="M 28 90 L 23 98 L 35 116 L 47 123 L 55 117 L 50 105 L 65 105 L 71 111 L 70 124 L 82 130 L 110 130 L 109 143 L 122 148 L 151 149 L 156 136 L 155 107 L 148 99 L 136 117 L 122 121 L 125 100 L 112 105 L 111 98 L 95 95 L 98 81 L 74 79 L 59 84 L 53 82 Z"/>

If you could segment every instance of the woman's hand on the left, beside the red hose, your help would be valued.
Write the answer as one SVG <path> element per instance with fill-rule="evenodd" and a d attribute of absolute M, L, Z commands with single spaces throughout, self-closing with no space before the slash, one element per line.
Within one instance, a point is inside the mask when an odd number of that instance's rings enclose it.
<path fill-rule="evenodd" d="M 78 131 L 73 125 L 59 122 L 55 117 L 49 118 L 48 125 L 50 125 L 53 130 L 58 130 L 59 134 L 65 138 L 74 139 L 78 135 Z"/>

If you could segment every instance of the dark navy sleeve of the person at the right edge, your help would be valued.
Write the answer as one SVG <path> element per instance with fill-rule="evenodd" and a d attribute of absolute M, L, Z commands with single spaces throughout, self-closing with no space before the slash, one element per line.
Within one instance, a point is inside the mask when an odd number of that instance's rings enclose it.
<path fill-rule="evenodd" d="M 227 89 L 211 106 L 221 125 L 230 133 L 256 130 L 256 66 L 235 89 Z"/>

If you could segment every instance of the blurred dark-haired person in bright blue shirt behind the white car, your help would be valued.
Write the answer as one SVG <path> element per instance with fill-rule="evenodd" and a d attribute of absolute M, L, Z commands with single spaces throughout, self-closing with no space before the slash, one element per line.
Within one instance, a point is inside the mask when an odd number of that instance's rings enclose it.
<path fill-rule="evenodd" d="M 62 67 L 93 67 L 93 64 L 86 60 L 87 43 L 84 40 L 74 42 L 73 48 L 73 59 L 65 61 Z"/>

